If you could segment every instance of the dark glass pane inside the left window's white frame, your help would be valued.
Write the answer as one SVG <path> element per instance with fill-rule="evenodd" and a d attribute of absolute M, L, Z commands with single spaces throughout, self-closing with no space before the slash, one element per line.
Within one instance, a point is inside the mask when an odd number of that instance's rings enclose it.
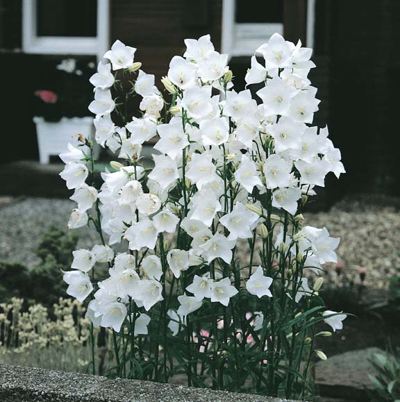
<path fill-rule="evenodd" d="M 97 35 L 97 0 L 37 0 L 38 36 Z"/>

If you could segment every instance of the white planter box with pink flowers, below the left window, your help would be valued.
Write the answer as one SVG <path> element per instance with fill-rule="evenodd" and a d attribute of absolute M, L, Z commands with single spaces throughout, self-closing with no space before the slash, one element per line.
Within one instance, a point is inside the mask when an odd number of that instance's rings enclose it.
<path fill-rule="evenodd" d="M 50 156 L 58 156 L 67 151 L 68 143 L 77 146 L 78 134 L 94 140 L 92 117 L 63 117 L 59 122 L 47 122 L 42 117 L 33 117 L 38 135 L 40 163 L 47 165 Z M 99 156 L 99 145 L 94 142 L 94 158 Z"/>

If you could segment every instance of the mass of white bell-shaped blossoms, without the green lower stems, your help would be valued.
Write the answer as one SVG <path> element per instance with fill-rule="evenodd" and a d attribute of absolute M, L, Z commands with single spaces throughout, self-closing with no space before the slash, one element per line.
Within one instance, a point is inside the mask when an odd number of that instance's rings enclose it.
<path fill-rule="evenodd" d="M 172 58 L 163 78 L 172 96 L 167 112 L 154 76 L 134 63 L 136 49 L 117 41 L 104 56 L 109 62 L 99 63 L 90 80 L 95 140 L 124 161 L 101 175 L 99 191 L 86 184 L 88 149 L 69 146 L 61 155 L 66 166 L 60 175 L 74 189 L 77 203 L 69 228 L 87 224 L 96 203 L 101 212 L 97 227 L 108 235 L 108 245 L 74 252 L 73 271 L 65 273 L 67 292 L 83 301 L 94 288 L 88 272 L 97 262 L 108 263 L 109 277 L 97 283 L 88 317 L 116 331 L 130 317 L 132 301 L 136 311 L 148 312 L 164 299 L 167 277 L 181 283 L 178 312 L 168 312 L 175 320 L 199 310 L 205 299 L 227 306 L 241 288 L 258 298 L 272 297 L 273 278 L 264 265 L 249 278 L 242 270 L 233 283 L 227 267 L 238 242 L 251 239 L 271 219 L 265 197 L 275 213 L 294 217 L 302 200 L 315 194 L 313 187 L 324 186 L 326 174 L 344 172 L 327 128 L 310 126 L 319 103 L 307 78 L 315 67 L 311 49 L 273 35 L 251 58 L 248 89 L 235 92 L 228 57 L 215 51 L 209 35 L 185 44 L 183 57 Z M 142 98 L 142 115 L 119 127 L 112 119 L 115 74 L 135 69 L 132 92 Z M 261 88 L 256 95 L 254 84 Z M 153 156 L 153 169 L 145 169 L 139 163 L 142 145 L 156 135 L 154 149 L 160 154 Z M 269 228 L 267 233 L 276 239 L 273 252 L 286 247 L 288 256 L 301 258 L 310 269 L 336 261 L 339 239 L 326 228 L 284 233 L 280 219 L 273 229 L 281 227 L 281 232 Z M 164 249 L 165 233 L 177 233 L 187 240 L 185 246 Z M 110 245 L 121 241 L 127 242 L 127 252 L 114 256 Z M 297 286 L 297 302 L 313 293 L 305 278 L 290 286 Z M 135 333 L 147 333 L 149 321 L 142 310 Z"/>

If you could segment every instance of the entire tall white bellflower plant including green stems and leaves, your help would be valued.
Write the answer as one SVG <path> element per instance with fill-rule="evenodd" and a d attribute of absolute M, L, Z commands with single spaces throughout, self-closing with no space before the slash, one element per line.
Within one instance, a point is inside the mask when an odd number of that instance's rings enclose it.
<path fill-rule="evenodd" d="M 317 325 L 340 330 L 346 317 L 307 278 L 337 262 L 340 240 L 301 212 L 328 172 L 344 172 L 327 128 L 310 126 L 312 51 L 272 35 L 238 93 L 209 35 L 185 44 L 165 97 L 120 41 L 90 79 L 95 139 L 119 161 L 96 188 L 89 139 L 60 155 L 77 203 L 68 226 L 93 225 L 100 242 L 74 251 L 67 294 L 90 299 L 92 330 L 110 328 L 114 376 L 301 398 L 326 359 L 315 338 L 331 332 Z M 149 168 L 140 153 L 156 135 Z"/>

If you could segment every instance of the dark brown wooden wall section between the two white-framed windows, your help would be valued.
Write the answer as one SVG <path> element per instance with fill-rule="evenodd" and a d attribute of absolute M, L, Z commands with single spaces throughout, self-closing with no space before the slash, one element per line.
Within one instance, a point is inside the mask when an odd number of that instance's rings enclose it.
<path fill-rule="evenodd" d="M 135 60 L 157 78 L 185 51 L 185 38 L 210 33 L 221 46 L 222 0 L 112 0 L 111 41 L 138 48 Z"/>

